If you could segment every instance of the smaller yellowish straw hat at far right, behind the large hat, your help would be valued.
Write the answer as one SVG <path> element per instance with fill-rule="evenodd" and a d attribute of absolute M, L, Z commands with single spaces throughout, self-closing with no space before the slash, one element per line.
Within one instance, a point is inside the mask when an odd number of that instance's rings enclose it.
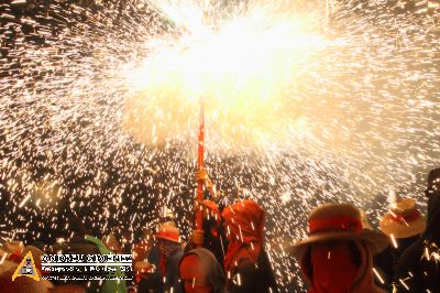
<path fill-rule="evenodd" d="M 426 220 L 417 209 L 413 198 L 403 198 L 384 215 L 378 224 L 381 230 L 395 238 L 407 238 L 419 235 L 426 229 Z"/>

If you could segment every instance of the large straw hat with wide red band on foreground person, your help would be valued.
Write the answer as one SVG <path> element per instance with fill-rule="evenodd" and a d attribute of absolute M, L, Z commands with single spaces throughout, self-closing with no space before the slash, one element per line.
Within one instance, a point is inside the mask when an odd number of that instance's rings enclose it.
<path fill-rule="evenodd" d="M 308 217 L 308 238 L 290 247 L 290 253 L 298 260 L 310 246 L 322 241 L 367 242 L 375 254 L 388 246 L 387 237 L 370 229 L 363 229 L 361 213 L 350 204 L 323 204 L 316 207 Z"/>

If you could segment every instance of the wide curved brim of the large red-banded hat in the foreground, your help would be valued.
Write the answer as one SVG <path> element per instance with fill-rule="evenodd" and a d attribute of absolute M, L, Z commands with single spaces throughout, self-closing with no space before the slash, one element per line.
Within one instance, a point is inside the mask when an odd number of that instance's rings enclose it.
<path fill-rule="evenodd" d="M 361 232 L 352 231 L 326 231 L 321 234 L 315 234 L 309 238 L 299 241 L 288 249 L 288 252 L 296 258 L 298 261 L 302 259 L 302 256 L 307 252 L 312 243 L 318 243 L 329 240 L 359 240 L 367 242 L 372 249 L 372 253 L 376 254 L 388 246 L 388 237 L 381 231 L 374 231 L 363 229 Z"/>

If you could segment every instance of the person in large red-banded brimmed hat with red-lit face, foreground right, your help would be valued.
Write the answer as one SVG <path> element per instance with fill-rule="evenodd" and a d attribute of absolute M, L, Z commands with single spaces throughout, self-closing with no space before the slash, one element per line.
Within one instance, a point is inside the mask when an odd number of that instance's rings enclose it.
<path fill-rule="evenodd" d="M 309 293 L 382 293 L 374 284 L 373 254 L 387 237 L 362 228 L 361 214 L 350 204 L 324 204 L 308 217 L 309 235 L 290 252 L 310 284 Z"/>

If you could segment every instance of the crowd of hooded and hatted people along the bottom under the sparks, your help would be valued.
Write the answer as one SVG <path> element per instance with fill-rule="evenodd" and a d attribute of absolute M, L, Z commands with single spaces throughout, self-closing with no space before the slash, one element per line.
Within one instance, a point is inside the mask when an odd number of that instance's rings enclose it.
<path fill-rule="evenodd" d="M 216 198 L 205 171 L 197 172 Z M 308 237 L 286 248 L 297 261 L 309 293 L 440 292 L 440 169 L 428 175 L 427 217 L 416 202 L 399 198 L 374 229 L 366 214 L 351 204 L 328 203 L 308 216 Z M 42 270 L 44 253 L 122 253 L 113 235 L 98 239 L 76 229 L 69 242 L 26 246 L 10 241 L 0 249 L 1 292 L 279 292 L 265 250 L 264 208 L 242 199 L 219 206 L 196 200 L 202 227 L 184 243 L 175 218 L 133 243 L 133 281 L 35 282 L 12 275 L 32 252 Z M 114 274 L 129 272 L 118 269 Z"/>

